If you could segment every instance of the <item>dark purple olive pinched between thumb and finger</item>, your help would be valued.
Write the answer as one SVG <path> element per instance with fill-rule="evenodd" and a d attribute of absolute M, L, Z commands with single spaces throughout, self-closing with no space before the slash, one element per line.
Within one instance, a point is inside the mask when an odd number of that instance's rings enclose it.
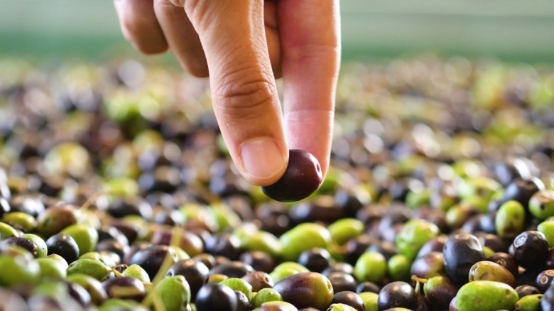
<path fill-rule="evenodd" d="M 294 202 L 311 195 L 321 182 L 322 172 L 317 158 L 307 151 L 290 149 L 283 176 L 272 185 L 261 187 L 261 190 L 273 200 Z"/>

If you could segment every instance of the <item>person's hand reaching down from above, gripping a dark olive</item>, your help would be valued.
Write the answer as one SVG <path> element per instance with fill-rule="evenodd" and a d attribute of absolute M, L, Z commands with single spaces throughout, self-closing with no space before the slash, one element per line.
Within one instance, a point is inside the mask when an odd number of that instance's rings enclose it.
<path fill-rule="evenodd" d="M 215 116 L 246 180 L 276 182 L 289 148 L 315 155 L 325 176 L 340 67 L 338 0 L 114 4 L 121 31 L 136 50 L 170 50 L 190 74 L 210 77 Z"/>

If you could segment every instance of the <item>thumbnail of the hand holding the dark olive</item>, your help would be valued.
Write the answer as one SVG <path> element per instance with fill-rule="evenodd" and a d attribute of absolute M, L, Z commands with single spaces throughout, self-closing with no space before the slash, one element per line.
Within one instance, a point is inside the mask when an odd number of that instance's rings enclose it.
<path fill-rule="evenodd" d="M 285 158 L 271 138 L 256 138 L 241 144 L 241 160 L 247 179 L 267 180 L 280 173 Z"/>

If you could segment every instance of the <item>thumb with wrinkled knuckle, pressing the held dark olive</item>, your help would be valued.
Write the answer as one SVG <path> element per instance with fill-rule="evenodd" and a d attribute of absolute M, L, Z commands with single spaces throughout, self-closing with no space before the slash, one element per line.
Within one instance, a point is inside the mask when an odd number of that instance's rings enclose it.
<path fill-rule="evenodd" d="M 234 163 L 254 185 L 286 170 L 288 147 L 264 29 L 263 0 L 184 1 L 210 72 L 217 123 Z"/>

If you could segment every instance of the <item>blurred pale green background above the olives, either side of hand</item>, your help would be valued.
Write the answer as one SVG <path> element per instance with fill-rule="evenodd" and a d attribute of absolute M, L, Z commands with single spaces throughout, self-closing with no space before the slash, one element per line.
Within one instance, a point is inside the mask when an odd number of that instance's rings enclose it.
<path fill-rule="evenodd" d="M 344 0 L 345 60 L 413 53 L 554 60 L 551 0 Z M 105 58 L 132 54 L 112 1 L 0 0 L 0 54 Z"/>

